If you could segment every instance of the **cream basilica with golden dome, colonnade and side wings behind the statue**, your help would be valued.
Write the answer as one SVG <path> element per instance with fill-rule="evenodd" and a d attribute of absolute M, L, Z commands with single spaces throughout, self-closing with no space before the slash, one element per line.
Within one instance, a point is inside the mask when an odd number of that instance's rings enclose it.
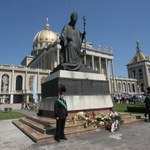
<path fill-rule="evenodd" d="M 114 53 L 108 48 L 94 48 L 92 43 L 82 44 L 83 63 L 109 81 L 110 94 L 144 94 L 150 86 L 150 56 L 142 52 L 139 41 L 136 54 L 127 64 L 128 78 L 115 77 Z M 33 80 L 36 77 L 38 101 L 41 100 L 41 84 L 57 65 L 63 62 L 59 33 L 53 32 L 48 20 L 43 30 L 33 38 L 31 54 L 19 65 L 0 64 L 0 102 L 21 103 L 33 101 Z"/>

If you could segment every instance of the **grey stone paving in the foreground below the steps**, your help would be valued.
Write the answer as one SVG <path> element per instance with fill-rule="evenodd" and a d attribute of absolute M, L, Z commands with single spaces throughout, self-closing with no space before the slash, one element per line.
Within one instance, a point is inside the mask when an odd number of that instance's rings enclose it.
<path fill-rule="evenodd" d="M 125 124 L 118 132 L 97 130 L 78 134 L 67 141 L 34 143 L 12 124 L 12 120 L 0 121 L 1 150 L 150 150 L 150 123 Z"/>

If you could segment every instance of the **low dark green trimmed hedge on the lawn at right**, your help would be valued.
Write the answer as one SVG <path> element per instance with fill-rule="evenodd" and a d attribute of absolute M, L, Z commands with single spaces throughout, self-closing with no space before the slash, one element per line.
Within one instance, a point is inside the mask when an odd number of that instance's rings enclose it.
<path fill-rule="evenodd" d="M 129 105 L 127 106 L 128 112 L 145 113 L 145 105 Z"/>

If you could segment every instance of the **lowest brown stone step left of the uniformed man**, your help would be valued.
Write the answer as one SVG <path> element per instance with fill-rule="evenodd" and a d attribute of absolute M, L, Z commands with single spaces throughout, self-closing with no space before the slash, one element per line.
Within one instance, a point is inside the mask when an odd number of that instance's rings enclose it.
<path fill-rule="evenodd" d="M 36 143 L 42 143 L 54 139 L 54 135 L 42 134 L 19 120 L 13 120 L 13 124 L 16 125 L 22 132 L 28 135 Z"/>

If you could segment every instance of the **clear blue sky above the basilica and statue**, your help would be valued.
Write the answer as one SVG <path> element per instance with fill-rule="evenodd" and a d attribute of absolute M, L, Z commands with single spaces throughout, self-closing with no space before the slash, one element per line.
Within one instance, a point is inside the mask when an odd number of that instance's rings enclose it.
<path fill-rule="evenodd" d="M 115 76 L 128 76 L 137 40 L 150 56 L 149 0 L 0 0 L 0 64 L 20 64 L 46 18 L 51 30 L 61 33 L 74 11 L 81 32 L 86 16 L 86 40 L 94 48 L 113 48 Z"/>

